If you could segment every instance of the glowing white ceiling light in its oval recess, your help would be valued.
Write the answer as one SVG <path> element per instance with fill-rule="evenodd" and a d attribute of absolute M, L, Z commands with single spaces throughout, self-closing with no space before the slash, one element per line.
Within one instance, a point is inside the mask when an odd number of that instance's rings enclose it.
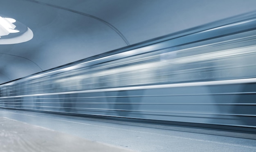
<path fill-rule="evenodd" d="M 32 38 L 33 32 L 30 28 L 13 18 L 0 16 L 0 44 L 22 43 Z"/>

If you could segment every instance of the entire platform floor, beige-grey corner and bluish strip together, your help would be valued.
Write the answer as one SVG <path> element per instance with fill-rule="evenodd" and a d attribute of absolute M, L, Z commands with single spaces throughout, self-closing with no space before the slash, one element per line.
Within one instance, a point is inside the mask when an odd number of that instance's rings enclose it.
<path fill-rule="evenodd" d="M 5 136 L 9 132 L 13 138 L 22 137 L 13 142 L 12 148 L 20 148 L 20 144 L 25 143 L 24 147 L 30 151 L 39 152 L 44 152 L 44 148 L 47 152 L 56 151 L 54 148 L 61 149 L 59 145 L 65 147 L 62 152 L 85 151 L 84 148 L 90 146 L 91 151 L 86 151 L 99 152 L 101 149 L 106 152 L 110 148 L 112 152 L 256 152 L 256 135 L 236 132 L 8 109 L 0 109 L 0 118 L 0 152 L 17 150 L 7 147 Z M 20 127 L 25 127 L 26 131 L 22 132 Z M 23 151 L 19 149 L 18 152 Z"/>

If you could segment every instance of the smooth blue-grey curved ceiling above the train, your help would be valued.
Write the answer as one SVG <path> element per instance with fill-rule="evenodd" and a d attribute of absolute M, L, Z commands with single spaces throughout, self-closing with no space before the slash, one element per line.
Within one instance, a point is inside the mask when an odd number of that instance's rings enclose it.
<path fill-rule="evenodd" d="M 0 0 L 0 16 L 34 33 L 30 41 L 0 45 L 0 84 L 255 6 L 256 0 Z"/>

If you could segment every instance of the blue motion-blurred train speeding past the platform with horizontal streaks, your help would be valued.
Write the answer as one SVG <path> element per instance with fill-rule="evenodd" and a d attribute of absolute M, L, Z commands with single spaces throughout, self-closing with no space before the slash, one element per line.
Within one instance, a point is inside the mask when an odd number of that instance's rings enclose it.
<path fill-rule="evenodd" d="M 0 85 L 0 107 L 256 128 L 256 13 Z"/>

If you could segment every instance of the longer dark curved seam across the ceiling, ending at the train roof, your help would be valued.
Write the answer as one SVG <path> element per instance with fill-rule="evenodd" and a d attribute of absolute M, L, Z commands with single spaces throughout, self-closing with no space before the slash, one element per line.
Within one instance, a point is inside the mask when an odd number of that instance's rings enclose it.
<path fill-rule="evenodd" d="M 129 41 L 126 39 L 126 37 L 115 26 L 113 26 L 112 24 L 106 22 L 105 20 L 102 20 L 99 17 L 93 16 L 93 15 L 89 15 L 89 14 L 86 14 L 86 13 L 82 13 L 82 12 L 79 12 L 79 11 L 75 11 L 75 10 L 72 10 L 72 9 L 67 9 L 65 7 L 59 7 L 59 6 L 56 6 L 56 5 L 53 5 L 53 4 L 48 4 L 48 3 L 44 3 L 44 2 L 38 2 L 36 0 L 26 0 L 26 1 L 35 2 L 35 3 L 38 3 L 38 4 L 43 4 L 43 5 L 47 5 L 49 7 L 55 7 L 55 8 L 58 8 L 58 9 L 63 9 L 63 10 L 66 10 L 66 11 L 70 11 L 70 12 L 73 12 L 73 13 L 77 13 L 77 14 L 80 14 L 80 15 L 88 16 L 88 17 L 94 18 L 96 20 L 99 20 L 100 22 L 102 22 L 102 23 L 106 24 L 107 26 L 109 26 L 110 28 L 112 28 L 112 30 L 114 30 L 124 40 L 126 45 L 130 46 Z"/>

